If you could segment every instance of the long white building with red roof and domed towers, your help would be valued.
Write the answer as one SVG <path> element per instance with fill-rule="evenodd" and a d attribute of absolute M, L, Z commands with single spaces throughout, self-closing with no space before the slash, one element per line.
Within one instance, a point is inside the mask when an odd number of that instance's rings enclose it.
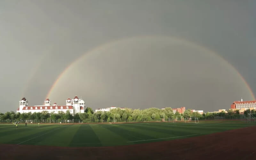
<path fill-rule="evenodd" d="M 54 103 L 51 105 L 51 100 L 47 98 L 44 101 L 44 105 L 40 106 L 28 106 L 28 100 L 26 98 L 22 98 L 20 101 L 20 107 L 17 109 L 17 113 L 35 113 L 35 112 L 43 112 L 43 111 L 48 111 L 49 113 L 58 113 L 59 111 L 69 112 L 74 115 L 76 113 L 84 113 L 84 107 L 85 103 L 84 100 L 79 99 L 77 96 L 75 96 L 74 99 L 68 98 L 66 100 L 66 105 L 60 106 L 57 105 L 57 103 Z"/>

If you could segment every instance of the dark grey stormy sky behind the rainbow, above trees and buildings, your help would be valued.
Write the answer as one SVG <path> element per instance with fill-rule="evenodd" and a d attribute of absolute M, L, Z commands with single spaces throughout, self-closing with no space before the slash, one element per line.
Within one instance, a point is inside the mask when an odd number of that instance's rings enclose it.
<path fill-rule="evenodd" d="M 234 68 L 211 56 L 227 60 L 256 93 L 255 7 L 246 0 L 3 0 L 0 112 L 16 110 L 22 97 L 41 105 L 79 57 L 50 94 L 53 102 L 64 105 L 77 94 L 93 109 L 213 111 L 241 97 L 252 100 Z M 91 50 L 97 53 L 83 56 Z"/>

